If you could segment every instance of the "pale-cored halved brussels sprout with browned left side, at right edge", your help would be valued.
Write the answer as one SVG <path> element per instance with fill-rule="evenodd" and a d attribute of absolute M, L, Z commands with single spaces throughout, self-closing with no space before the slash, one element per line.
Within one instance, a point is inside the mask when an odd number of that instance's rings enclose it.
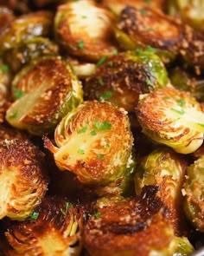
<path fill-rule="evenodd" d="M 181 154 L 201 147 L 204 113 L 188 92 L 165 87 L 144 95 L 136 108 L 143 133 Z"/>

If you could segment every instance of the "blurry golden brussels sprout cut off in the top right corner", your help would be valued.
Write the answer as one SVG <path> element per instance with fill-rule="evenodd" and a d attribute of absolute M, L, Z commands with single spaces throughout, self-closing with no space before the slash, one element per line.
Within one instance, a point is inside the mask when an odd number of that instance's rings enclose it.
<path fill-rule="evenodd" d="M 182 23 L 187 23 L 196 30 L 203 30 L 203 8 L 204 2 L 194 0 L 169 0 L 167 12 L 171 16 L 179 15 Z"/>

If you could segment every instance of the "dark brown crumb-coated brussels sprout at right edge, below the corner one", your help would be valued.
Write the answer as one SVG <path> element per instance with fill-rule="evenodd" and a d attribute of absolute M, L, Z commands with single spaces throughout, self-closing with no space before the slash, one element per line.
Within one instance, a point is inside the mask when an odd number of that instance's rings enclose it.
<path fill-rule="evenodd" d="M 180 54 L 184 63 L 194 69 L 197 75 L 204 72 L 204 36 L 189 26 L 185 27 Z"/>

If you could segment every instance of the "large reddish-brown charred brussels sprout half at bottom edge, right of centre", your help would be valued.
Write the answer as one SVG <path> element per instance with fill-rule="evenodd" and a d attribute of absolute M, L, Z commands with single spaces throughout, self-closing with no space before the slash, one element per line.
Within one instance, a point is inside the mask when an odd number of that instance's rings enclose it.
<path fill-rule="evenodd" d="M 90 256 L 188 255 L 186 238 L 175 236 L 168 213 L 156 198 L 156 187 L 145 187 L 136 200 L 116 200 L 98 208 L 83 233 Z"/>

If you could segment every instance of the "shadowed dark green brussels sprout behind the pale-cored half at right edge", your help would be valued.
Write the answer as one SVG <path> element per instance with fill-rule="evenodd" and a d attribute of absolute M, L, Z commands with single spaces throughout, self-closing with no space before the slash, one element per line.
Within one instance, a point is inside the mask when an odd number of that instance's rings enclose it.
<path fill-rule="evenodd" d="M 169 79 L 177 89 L 189 91 L 199 102 L 204 102 L 204 78 L 176 67 L 169 71 Z"/>

